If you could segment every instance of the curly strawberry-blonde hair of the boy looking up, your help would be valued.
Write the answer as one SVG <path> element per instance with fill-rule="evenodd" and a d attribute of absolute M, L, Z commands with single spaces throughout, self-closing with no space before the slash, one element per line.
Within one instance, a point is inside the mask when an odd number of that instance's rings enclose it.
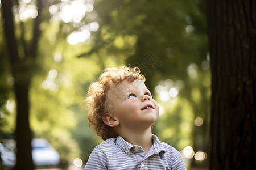
<path fill-rule="evenodd" d="M 96 134 L 103 140 L 113 137 L 116 138 L 118 135 L 113 128 L 104 124 L 102 121 L 102 116 L 108 113 L 108 108 L 106 108 L 106 94 L 110 88 L 110 84 L 121 83 L 125 79 L 129 83 L 133 83 L 135 79 L 141 80 L 143 83 L 146 80 L 138 67 L 119 66 L 106 68 L 98 78 L 98 82 L 91 83 L 88 88 L 84 106 L 88 111 L 90 128 L 96 131 Z"/>

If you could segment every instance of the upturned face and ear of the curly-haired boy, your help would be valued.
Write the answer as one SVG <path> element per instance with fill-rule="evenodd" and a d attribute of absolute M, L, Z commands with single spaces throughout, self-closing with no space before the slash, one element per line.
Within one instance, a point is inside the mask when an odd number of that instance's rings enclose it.
<path fill-rule="evenodd" d="M 158 103 L 140 80 L 127 80 L 110 87 L 107 97 L 114 104 L 112 116 L 122 128 L 149 128 L 158 119 Z"/>

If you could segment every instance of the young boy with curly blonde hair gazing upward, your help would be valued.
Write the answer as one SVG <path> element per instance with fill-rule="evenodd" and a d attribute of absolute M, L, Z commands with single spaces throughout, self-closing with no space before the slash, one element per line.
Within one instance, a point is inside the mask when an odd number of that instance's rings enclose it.
<path fill-rule="evenodd" d="M 152 134 L 158 103 L 138 68 L 105 69 L 85 99 L 90 128 L 104 139 L 85 169 L 186 169 L 180 152 Z"/>

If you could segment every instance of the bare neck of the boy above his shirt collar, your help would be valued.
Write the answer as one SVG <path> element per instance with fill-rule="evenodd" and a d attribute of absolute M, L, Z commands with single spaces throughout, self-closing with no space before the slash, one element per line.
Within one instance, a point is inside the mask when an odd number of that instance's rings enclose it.
<path fill-rule="evenodd" d="M 124 131 L 119 135 L 132 145 L 141 146 L 145 155 L 147 155 L 147 152 L 153 145 L 151 127 L 146 131 Z"/>

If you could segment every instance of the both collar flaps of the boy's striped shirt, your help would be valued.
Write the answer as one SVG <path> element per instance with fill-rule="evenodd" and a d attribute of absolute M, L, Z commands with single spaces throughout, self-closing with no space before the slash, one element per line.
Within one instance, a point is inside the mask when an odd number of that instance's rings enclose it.
<path fill-rule="evenodd" d="M 164 154 L 166 153 L 166 150 L 162 143 L 160 143 L 158 137 L 156 135 L 152 134 L 152 140 L 153 140 L 153 146 L 150 148 L 150 151 L 148 152 L 148 156 L 151 156 L 153 154 L 159 154 L 160 158 L 162 159 Z M 127 155 L 131 154 L 131 148 L 134 147 L 131 145 L 131 143 L 125 141 L 121 136 L 117 137 L 117 140 L 115 141 L 115 144 L 121 148 L 122 151 L 126 152 Z"/>

